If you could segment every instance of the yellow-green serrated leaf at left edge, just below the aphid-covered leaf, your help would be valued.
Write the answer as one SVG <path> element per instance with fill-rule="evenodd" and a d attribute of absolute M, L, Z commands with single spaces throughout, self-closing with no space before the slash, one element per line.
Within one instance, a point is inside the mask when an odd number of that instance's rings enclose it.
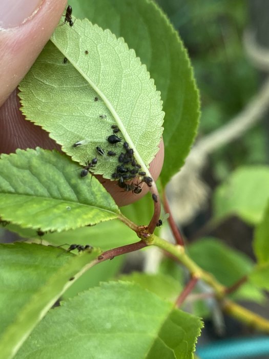
<path fill-rule="evenodd" d="M 80 178 L 67 156 L 37 148 L 2 154 L 0 215 L 21 227 L 67 230 L 119 213 L 113 198 L 96 178 Z"/>

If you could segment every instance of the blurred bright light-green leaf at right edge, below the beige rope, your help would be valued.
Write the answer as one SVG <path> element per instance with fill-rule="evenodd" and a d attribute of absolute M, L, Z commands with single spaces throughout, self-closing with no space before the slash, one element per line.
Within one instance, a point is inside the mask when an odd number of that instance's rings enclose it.
<path fill-rule="evenodd" d="M 269 198 L 269 168 L 241 167 L 235 170 L 215 191 L 213 197 L 216 221 L 238 215 L 250 224 L 261 222 Z"/>

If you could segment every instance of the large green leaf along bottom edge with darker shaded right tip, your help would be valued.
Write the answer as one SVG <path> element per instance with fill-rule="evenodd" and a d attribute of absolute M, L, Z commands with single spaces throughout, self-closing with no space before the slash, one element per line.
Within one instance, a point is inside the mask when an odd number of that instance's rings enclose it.
<path fill-rule="evenodd" d="M 201 326 L 137 285 L 102 283 L 51 310 L 16 357 L 191 359 Z"/>

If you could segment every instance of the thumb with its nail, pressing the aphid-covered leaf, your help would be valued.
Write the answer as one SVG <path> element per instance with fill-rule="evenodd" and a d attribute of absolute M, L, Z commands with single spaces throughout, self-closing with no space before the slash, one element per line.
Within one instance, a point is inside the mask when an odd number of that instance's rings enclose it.
<path fill-rule="evenodd" d="M 28 72 L 64 12 L 66 0 L 2 0 L 0 106 Z"/>

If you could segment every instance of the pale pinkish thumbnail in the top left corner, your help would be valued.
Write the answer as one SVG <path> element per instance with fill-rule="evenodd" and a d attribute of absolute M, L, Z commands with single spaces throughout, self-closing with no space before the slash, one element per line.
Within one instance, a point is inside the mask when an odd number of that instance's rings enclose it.
<path fill-rule="evenodd" d="M 1 0 L 0 29 L 22 25 L 36 13 L 43 0 Z"/>

